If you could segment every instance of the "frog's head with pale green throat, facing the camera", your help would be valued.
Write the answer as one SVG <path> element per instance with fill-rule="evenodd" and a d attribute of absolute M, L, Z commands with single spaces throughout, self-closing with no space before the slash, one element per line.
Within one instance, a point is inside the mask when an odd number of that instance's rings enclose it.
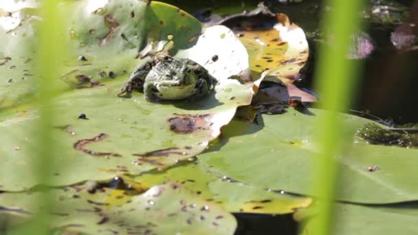
<path fill-rule="evenodd" d="M 195 93 L 197 75 L 186 62 L 159 60 L 159 63 L 146 76 L 145 82 L 145 86 L 153 86 L 154 95 L 158 98 L 179 100 Z"/>

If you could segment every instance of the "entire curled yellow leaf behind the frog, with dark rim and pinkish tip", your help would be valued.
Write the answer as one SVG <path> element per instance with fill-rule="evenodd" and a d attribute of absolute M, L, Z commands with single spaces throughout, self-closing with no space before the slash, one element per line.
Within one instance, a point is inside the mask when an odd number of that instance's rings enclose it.
<path fill-rule="evenodd" d="M 219 23 L 231 27 L 248 49 L 253 78 L 281 82 L 289 96 L 298 96 L 303 102 L 316 101 L 292 85 L 307 62 L 309 46 L 303 30 L 290 23 L 285 14 L 274 14 L 259 3 L 256 9 L 228 16 Z"/>

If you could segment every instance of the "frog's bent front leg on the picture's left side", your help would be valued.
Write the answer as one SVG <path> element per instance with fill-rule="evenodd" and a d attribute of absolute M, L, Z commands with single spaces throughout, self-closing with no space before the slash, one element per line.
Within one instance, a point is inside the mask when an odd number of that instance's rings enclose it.
<path fill-rule="evenodd" d="M 148 72 L 153 67 L 153 61 L 149 61 L 140 67 L 137 67 L 129 77 L 129 79 L 124 83 L 118 93 L 118 97 L 122 97 L 125 94 L 132 93 L 133 90 L 142 91 L 144 89 L 144 80 Z"/>

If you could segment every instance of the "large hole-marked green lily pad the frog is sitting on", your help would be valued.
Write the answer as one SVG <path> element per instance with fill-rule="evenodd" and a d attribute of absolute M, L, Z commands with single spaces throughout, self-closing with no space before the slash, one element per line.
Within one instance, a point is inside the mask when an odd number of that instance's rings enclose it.
<path fill-rule="evenodd" d="M 201 153 L 220 134 L 221 126 L 230 122 L 236 107 L 250 104 L 252 82 L 228 79 L 248 76 L 249 66 L 245 47 L 227 27 L 203 28 L 186 12 L 165 3 L 113 0 L 94 10 L 91 2 L 62 3 L 64 10 L 72 12 L 67 18 L 72 27 L 64 35 L 70 38 L 72 50 L 62 64 L 61 78 L 69 86 L 63 87 L 55 102 L 57 121 L 51 123 L 54 144 L 61 144 L 54 162 L 57 168 L 43 183 L 65 186 L 109 179 L 115 173 L 137 175 L 166 168 Z M 7 43 L 22 38 L 19 30 L 34 28 L 32 21 L 21 23 L 16 34 L 7 34 Z M 139 92 L 131 98 L 116 97 L 129 73 L 142 63 L 136 58 L 140 48 L 158 50 L 167 43 L 174 45 L 173 56 L 188 57 L 206 67 L 219 81 L 215 91 L 197 102 L 153 103 Z M 215 55 L 218 60 L 212 59 Z M 84 59 L 78 60 L 79 56 Z M 23 70 L 31 67 L 21 66 Z M 7 79 L 8 70 L 1 72 L 1 80 Z M 1 190 L 23 190 L 39 183 L 32 177 L 31 162 L 36 148 L 31 144 L 36 138 L 33 126 L 40 118 L 30 103 L 35 89 L 30 80 L 0 87 L 0 100 L 6 100 L 0 112 Z M 87 118 L 77 118 L 81 113 Z"/>

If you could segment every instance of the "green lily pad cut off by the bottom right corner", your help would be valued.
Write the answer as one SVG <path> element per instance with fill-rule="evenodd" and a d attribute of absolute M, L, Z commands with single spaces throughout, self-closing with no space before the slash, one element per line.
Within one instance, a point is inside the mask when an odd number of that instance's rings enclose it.
<path fill-rule="evenodd" d="M 336 203 L 335 207 L 333 234 L 418 234 L 415 224 L 418 219 L 416 203 L 388 206 Z M 316 220 L 315 209 L 300 210 L 295 218 L 302 222 L 299 234 L 311 234 L 312 224 Z"/>

